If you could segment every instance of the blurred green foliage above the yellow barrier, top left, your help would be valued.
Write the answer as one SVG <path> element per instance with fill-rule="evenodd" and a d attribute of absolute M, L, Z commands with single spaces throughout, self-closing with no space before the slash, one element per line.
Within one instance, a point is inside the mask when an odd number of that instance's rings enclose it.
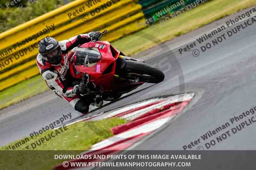
<path fill-rule="evenodd" d="M 6 0 L 0 0 L 0 5 L 5 5 L 5 2 Z M 34 0 L 34 3 L 31 2 L 32 0 L 30 3 L 27 2 L 24 8 L 0 8 L 0 33 L 63 5 L 63 0 Z"/>

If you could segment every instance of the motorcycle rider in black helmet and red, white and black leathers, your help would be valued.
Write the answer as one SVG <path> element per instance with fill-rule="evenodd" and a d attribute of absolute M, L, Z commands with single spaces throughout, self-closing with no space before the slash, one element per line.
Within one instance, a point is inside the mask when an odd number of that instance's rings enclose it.
<path fill-rule="evenodd" d="M 60 42 L 52 37 L 45 37 L 38 45 L 36 64 L 46 84 L 57 96 L 66 100 L 82 114 L 88 113 L 90 104 L 101 106 L 103 101 L 97 98 L 81 99 L 80 93 L 83 94 L 87 87 L 84 83 L 80 83 L 79 79 L 71 76 L 69 63 L 77 46 L 98 40 L 100 35 L 99 31 L 93 31 Z M 71 51 L 68 53 L 69 50 Z"/>

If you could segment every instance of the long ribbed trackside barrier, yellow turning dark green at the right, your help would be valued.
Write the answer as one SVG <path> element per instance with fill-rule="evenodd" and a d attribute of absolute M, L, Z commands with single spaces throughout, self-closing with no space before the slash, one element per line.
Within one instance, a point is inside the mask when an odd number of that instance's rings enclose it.
<path fill-rule="evenodd" d="M 77 34 L 108 29 L 103 40 L 115 41 L 147 27 L 139 27 L 138 23 L 146 22 L 154 12 L 178 0 L 99 1 L 76 0 L 1 33 L 0 91 L 40 74 L 35 58 L 42 38 L 50 36 L 61 41 Z"/>

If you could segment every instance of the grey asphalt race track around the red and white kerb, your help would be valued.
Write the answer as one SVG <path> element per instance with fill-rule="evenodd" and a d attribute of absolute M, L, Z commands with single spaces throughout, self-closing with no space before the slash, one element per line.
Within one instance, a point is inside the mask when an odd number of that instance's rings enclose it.
<path fill-rule="evenodd" d="M 195 92 L 194 99 L 175 120 L 168 122 L 158 129 L 156 133 L 132 146 L 136 150 L 182 150 L 183 145 L 188 145 L 190 142 L 201 138 L 200 136 L 207 131 L 215 130 L 226 122 L 230 123 L 232 117 L 239 116 L 256 106 L 256 24 L 242 29 L 232 37 L 227 37 L 226 40 L 207 49 L 205 52 L 202 52 L 199 48 L 207 42 L 211 42 L 212 39 L 202 44 L 197 43 L 196 48 L 200 50 L 199 56 L 193 56 L 192 51 L 180 55 L 178 51 L 179 48 L 184 47 L 185 43 L 190 44 L 190 41 L 194 42 L 193 40 L 198 36 L 202 36 L 204 33 L 211 32 L 213 29 L 225 25 L 228 19 L 234 19 L 245 11 L 213 22 L 173 41 L 168 41 L 161 46 L 138 54 L 137 56 L 153 54 L 154 57 L 147 60 L 147 63 L 151 65 L 157 64 L 157 66 L 163 67 L 164 61 L 167 64 L 166 67 L 162 68 L 165 71 L 165 80 L 156 85 L 144 84 L 129 93 L 130 95 L 124 96 L 120 100 L 92 113 L 99 113 L 151 97 Z M 239 24 L 241 22 L 226 28 L 218 35 L 215 35 L 213 39 Z M 173 55 L 175 55 L 179 63 L 176 63 L 176 65 L 172 64 L 172 71 L 170 71 L 167 69 L 170 67 L 168 64 L 173 62 Z M 147 57 L 144 58 L 147 59 Z M 179 69 L 179 64 L 181 70 Z M 180 78 L 177 75 L 180 75 Z M 70 112 L 72 113 L 73 120 L 81 118 L 65 101 L 53 98 L 50 101 L 37 104 L 35 107 L 1 120 L 0 145 L 8 144 L 13 140 L 39 130 L 59 119 L 63 114 Z M 245 120 L 248 122 L 248 119 L 252 116 L 249 115 L 234 125 L 230 123 L 227 129 L 230 130 Z M 211 146 L 210 149 L 253 150 L 255 149 L 256 142 L 255 128 L 256 123 L 252 123 L 248 127 L 245 126 L 244 129 L 238 131 L 235 135 L 230 131 L 230 137 Z M 225 133 L 227 129 L 221 130 L 218 132 L 218 135 Z M 216 135 L 206 141 L 201 139 L 201 143 L 193 147 L 192 150 L 196 150 L 198 146 L 205 147 L 204 144 L 215 139 L 215 137 Z"/>

